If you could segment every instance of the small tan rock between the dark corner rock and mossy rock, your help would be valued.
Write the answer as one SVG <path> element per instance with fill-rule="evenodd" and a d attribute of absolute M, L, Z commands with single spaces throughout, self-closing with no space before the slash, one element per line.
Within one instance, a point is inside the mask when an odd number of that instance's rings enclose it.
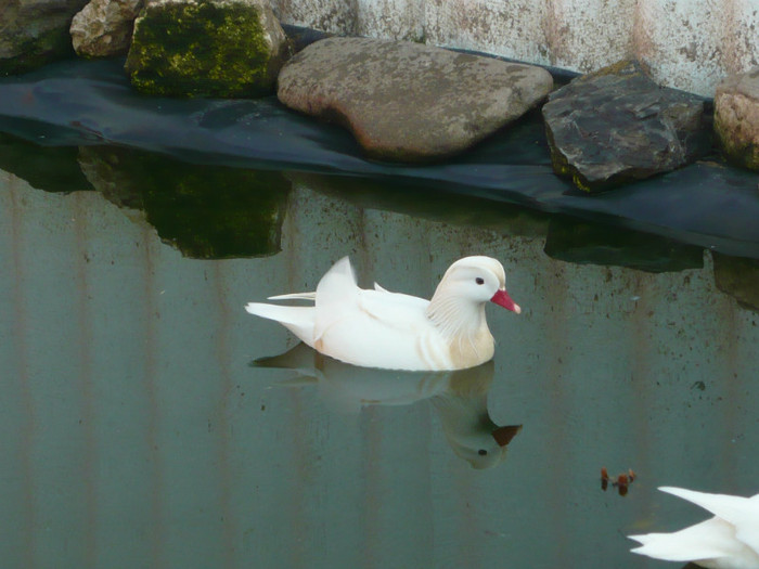
<path fill-rule="evenodd" d="M 87 57 L 125 55 L 143 3 L 143 0 L 91 0 L 72 21 L 74 51 Z"/>

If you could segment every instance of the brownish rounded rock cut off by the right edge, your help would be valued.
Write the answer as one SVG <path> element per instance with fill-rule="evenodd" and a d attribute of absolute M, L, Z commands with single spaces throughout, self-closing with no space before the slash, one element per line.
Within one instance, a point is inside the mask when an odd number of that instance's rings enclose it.
<path fill-rule="evenodd" d="M 717 87 L 715 132 L 731 161 L 759 170 L 759 67 Z"/>

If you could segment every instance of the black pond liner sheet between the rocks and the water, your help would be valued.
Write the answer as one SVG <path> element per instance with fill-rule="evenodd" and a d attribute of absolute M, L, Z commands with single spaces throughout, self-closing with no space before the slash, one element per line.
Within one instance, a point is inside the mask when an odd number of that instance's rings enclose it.
<path fill-rule="evenodd" d="M 759 259 L 759 174 L 703 160 L 587 195 L 553 173 L 538 112 L 443 164 L 387 164 L 365 159 L 346 130 L 273 96 L 144 96 L 121 60 L 75 60 L 1 78 L 0 131 L 40 145 L 115 144 L 192 163 L 393 179 Z"/>

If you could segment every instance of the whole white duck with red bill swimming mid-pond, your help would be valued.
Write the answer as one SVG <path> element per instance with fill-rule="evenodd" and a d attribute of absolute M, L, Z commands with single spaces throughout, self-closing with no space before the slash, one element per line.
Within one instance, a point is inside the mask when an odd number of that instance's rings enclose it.
<path fill-rule="evenodd" d="M 465 257 L 446 271 L 432 300 L 359 288 L 344 257 L 316 293 L 270 300 L 311 300 L 313 307 L 249 302 L 245 310 L 275 320 L 317 351 L 353 365 L 408 371 L 463 370 L 493 357 L 487 301 L 522 312 L 505 289 L 503 267 L 490 257 Z"/>

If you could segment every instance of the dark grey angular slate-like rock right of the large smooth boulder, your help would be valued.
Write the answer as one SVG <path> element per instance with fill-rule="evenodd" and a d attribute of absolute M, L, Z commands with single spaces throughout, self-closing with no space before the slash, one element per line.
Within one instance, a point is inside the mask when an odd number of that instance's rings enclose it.
<path fill-rule="evenodd" d="M 586 192 L 684 166 L 711 148 L 705 102 L 636 62 L 578 77 L 543 106 L 553 168 Z"/>

